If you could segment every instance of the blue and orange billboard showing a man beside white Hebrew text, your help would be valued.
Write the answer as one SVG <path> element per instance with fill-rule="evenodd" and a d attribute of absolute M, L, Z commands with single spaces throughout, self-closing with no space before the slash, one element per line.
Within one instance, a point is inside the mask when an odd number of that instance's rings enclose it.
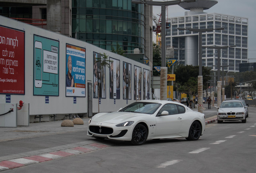
<path fill-rule="evenodd" d="M 85 48 L 66 44 L 66 96 L 85 97 Z"/>

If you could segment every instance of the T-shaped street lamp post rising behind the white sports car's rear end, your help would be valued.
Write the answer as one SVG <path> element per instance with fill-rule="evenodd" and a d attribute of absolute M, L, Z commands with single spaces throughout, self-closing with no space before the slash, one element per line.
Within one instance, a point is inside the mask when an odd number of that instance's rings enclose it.
<path fill-rule="evenodd" d="M 224 28 L 178 28 L 178 30 L 189 30 L 192 32 L 198 32 L 198 54 L 199 54 L 199 75 L 198 75 L 198 112 L 202 113 L 202 92 L 203 92 L 203 80 L 202 80 L 202 32 L 210 32 L 213 30 L 223 30 Z"/>

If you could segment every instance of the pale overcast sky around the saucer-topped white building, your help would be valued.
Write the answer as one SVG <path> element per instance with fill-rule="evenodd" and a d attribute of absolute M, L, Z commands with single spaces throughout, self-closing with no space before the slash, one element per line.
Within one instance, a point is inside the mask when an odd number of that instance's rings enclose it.
<path fill-rule="evenodd" d="M 163 1 L 163 0 L 154 0 Z M 169 1 L 169 0 L 165 0 Z M 220 13 L 232 16 L 239 16 L 248 18 L 248 58 L 256 58 L 256 0 L 217 0 L 218 3 L 210 8 L 204 10 L 206 13 Z M 184 16 L 184 10 L 178 5 L 168 6 L 168 18 Z M 166 10 L 167 13 L 167 10 Z M 153 14 L 159 16 L 161 14 L 161 6 L 153 6 Z M 166 14 L 167 15 L 167 14 Z M 153 22 L 153 25 L 155 23 Z M 155 32 L 153 32 L 155 34 Z M 156 42 L 155 35 L 153 41 Z M 250 59 L 250 62 L 256 62 L 256 59 Z"/>

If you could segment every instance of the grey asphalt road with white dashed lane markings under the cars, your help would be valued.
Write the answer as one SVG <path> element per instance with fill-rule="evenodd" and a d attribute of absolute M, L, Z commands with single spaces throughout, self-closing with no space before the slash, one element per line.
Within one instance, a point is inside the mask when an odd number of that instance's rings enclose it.
<path fill-rule="evenodd" d="M 209 110 L 209 114 L 211 111 L 213 110 Z M 205 114 L 206 112 L 208 110 L 204 111 Z M 217 109 L 215 109 L 216 112 Z M 186 141 L 186 139 L 150 140 L 141 146 L 133 146 L 124 141 L 98 141 L 87 137 L 86 129 L 83 129 L 82 126 L 76 127 L 71 132 L 61 132 L 60 129 L 56 128 L 57 133 L 48 132 L 44 135 L 37 134 L 16 140 L 0 141 L 0 159 L 6 155 L 80 144 L 89 146 L 88 148 L 91 150 L 3 172 L 254 173 L 256 170 L 255 115 L 256 108 L 249 107 L 249 118 L 246 123 L 208 124 L 204 135 L 198 141 Z M 44 133 L 43 131 L 45 129 L 42 129 L 41 133 Z M 49 131 L 52 131 L 50 127 Z"/>

